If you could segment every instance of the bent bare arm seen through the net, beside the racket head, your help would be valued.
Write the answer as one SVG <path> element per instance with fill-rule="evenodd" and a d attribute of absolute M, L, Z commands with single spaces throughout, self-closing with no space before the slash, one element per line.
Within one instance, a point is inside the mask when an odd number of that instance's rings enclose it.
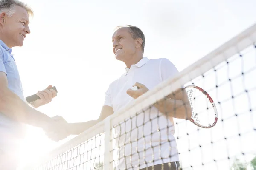
<path fill-rule="evenodd" d="M 157 102 L 154 106 L 161 113 L 167 113 L 168 116 L 174 118 L 189 120 L 192 116 L 191 105 L 184 88 L 176 90 L 166 99 Z"/>

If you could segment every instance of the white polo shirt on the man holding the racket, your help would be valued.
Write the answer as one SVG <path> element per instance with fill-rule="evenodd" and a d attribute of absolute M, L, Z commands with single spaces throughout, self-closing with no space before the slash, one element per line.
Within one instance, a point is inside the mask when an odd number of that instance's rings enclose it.
<path fill-rule="evenodd" d="M 126 91 L 136 82 L 150 90 L 178 73 L 175 65 L 166 58 L 149 60 L 144 57 L 130 69 L 125 69 L 125 74 L 112 82 L 105 93 L 104 105 L 111 106 L 114 113 L 134 100 Z M 155 107 L 143 109 L 144 112 L 125 119 L 115 128 L 116 170 L 137 170 L 179 161 L 173 119 L 166 118 Z"/>

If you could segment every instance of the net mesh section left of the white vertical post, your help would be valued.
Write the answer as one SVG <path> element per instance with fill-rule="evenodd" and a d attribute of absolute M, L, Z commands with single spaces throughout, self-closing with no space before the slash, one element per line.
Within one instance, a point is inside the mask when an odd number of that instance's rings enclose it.
<path fill-rule="evenodd" d="M 103 170 L 104 134 L 99 134 L 87 141 L 59 154 L 36 170 Z"/>

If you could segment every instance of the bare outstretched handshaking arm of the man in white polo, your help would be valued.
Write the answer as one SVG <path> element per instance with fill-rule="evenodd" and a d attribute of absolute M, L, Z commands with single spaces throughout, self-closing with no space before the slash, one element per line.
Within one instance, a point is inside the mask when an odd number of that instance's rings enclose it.
<path fill-rule="evenodd" d="M 80 133 L 84 132 L 88 128 L 101 122 L 102 120 L 104 120 L 106 117 L 110 116 L 113 113 L 114 113 L 113 108 L 111 108 L 110 106 L 103 106 L 99 119 L 90 120 L 88 122 L 82 122 L 82 123 L 70 123 L 67 126 L 68 131 L 70 135 L 79 135 Z"/>

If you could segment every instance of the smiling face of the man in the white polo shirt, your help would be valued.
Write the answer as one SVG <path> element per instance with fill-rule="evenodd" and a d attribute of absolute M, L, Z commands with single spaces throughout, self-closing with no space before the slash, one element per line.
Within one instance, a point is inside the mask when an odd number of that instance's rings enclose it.
<path fill-rule="evenodd" d="M 119 28 L 112 36 L 113 53 L 116 59 L 127 61 L 136 53 L 136 40 L 132 38 L 128 27 Z"/>

